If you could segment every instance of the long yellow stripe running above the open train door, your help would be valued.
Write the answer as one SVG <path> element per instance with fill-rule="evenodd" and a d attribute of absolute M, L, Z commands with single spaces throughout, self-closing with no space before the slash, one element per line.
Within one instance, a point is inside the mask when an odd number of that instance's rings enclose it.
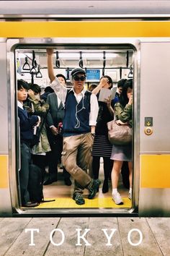
<path fill-rule="evenodd" d="M 0 22 L 0 37 L 169 37 L 169 21 Z"/>

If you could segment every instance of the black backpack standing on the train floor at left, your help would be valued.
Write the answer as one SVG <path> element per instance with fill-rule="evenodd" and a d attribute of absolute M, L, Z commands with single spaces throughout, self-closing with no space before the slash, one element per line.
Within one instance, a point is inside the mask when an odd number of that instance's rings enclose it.
<path fill-rule="evenodd" d="M 43 195 L 43 172 L 39 166 L 30 164 L 28 192 L 32 202 L 53 202 L 54 200 L 44 200 Z"/>

